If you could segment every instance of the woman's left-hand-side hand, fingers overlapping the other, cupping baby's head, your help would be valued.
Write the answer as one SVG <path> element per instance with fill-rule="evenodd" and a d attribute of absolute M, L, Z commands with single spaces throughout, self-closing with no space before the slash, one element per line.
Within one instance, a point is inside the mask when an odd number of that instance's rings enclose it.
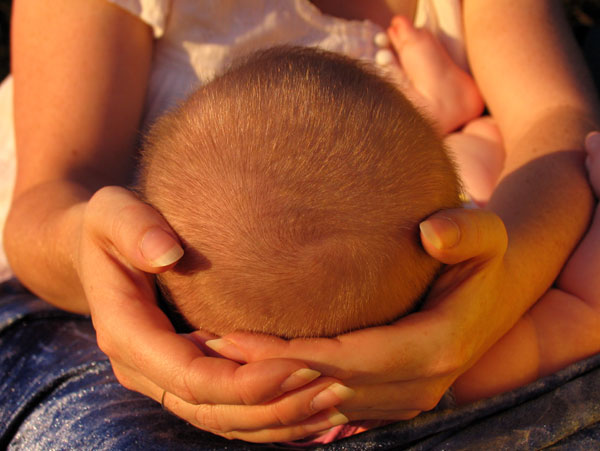
<path fill-rule="evenodd" d="M 156 305 L 150 273 L 172 268 L 183 250 L 164 218 L 133 193 L 120 187 L 96 192 L 80 241 L 78 272 L 98 344 L 125 387 L 230 438 L 292 440 L 347 421 L 332 407 L 351 391 L 332 387 L 336 380 L 319 378 L 306 364 L 241 365 L 175 333 Z"/>

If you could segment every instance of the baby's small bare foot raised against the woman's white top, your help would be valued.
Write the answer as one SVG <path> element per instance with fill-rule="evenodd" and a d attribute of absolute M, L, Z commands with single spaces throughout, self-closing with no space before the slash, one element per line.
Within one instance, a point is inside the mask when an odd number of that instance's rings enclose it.
<path fill-rule="evenodd" d="M 443 133 L 481 115 L 484 104 L 475 81 L 429 31 L 396 16 L 388 36 L 414 91 L 405 94 L 438 121 Z"/>

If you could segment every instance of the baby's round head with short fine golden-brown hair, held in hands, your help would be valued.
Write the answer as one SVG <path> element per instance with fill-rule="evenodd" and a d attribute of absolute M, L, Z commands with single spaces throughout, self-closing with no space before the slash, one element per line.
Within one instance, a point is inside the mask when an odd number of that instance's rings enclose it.
<path fill-rule="evenodd" d="M 440 138 L 398 90 L 289 47 L 163 116 L 139 190 L 184 244 L 163 293 L 217 335 L 332 336 L 409 312 L 439 269 L 418 224 L 460 204 Z"/>

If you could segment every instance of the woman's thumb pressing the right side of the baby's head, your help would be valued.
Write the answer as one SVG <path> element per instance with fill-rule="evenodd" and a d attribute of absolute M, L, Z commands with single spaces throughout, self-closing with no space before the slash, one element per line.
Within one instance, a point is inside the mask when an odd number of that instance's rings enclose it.
<path fill-rule="evenodd" d="M 442 210 L 423 221 L 419 228 L 427 253 L 446 264 L 502 257 L 508 245 L 504 223 L 487 210 Z"/>

